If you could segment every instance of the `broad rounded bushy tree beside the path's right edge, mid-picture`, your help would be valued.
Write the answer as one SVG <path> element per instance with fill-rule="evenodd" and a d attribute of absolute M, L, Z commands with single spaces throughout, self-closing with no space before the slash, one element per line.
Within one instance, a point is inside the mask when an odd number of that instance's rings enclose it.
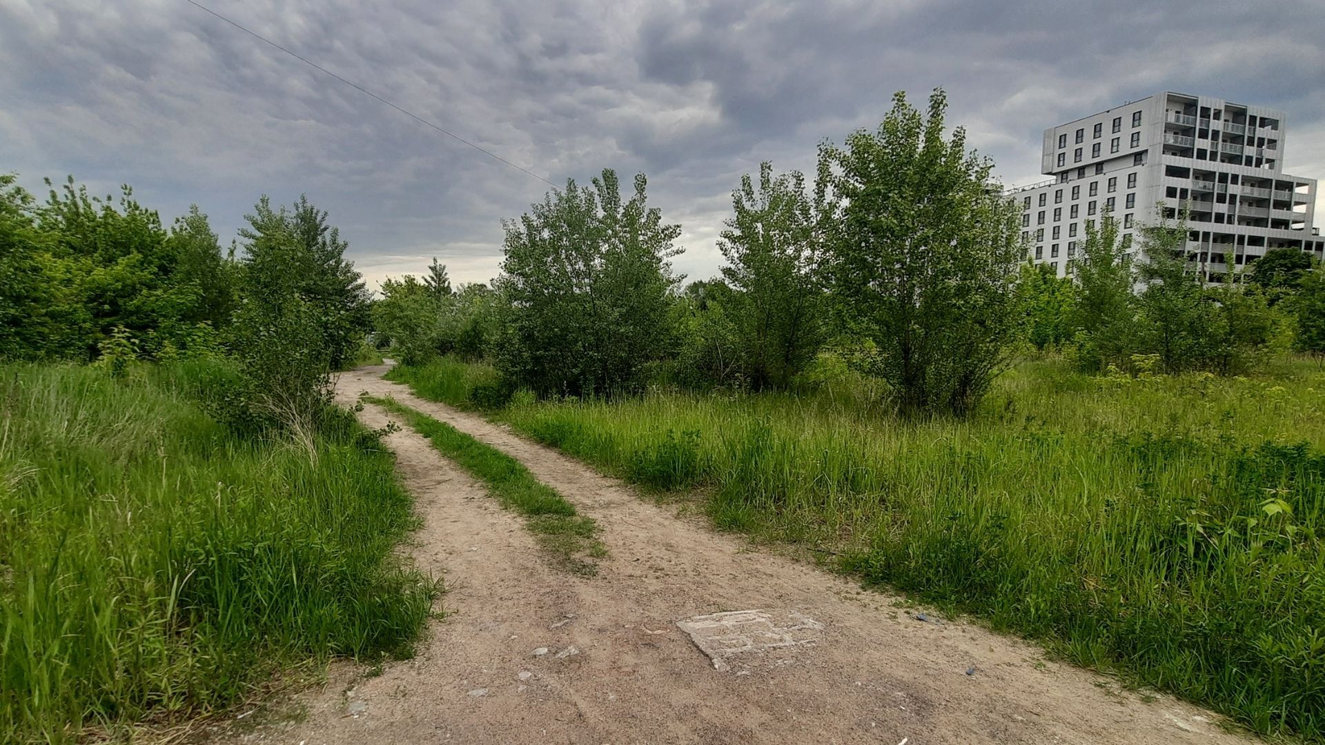
<path fill-rule="evenodd" d="M 623 199 L 616 174 L 567 180 L 504 223 L 502 335 L 496 363 L 539 394 L 607 394 L 639 384 L 666 353 L 680 225 L 647 204 L 645 178 Z"/>

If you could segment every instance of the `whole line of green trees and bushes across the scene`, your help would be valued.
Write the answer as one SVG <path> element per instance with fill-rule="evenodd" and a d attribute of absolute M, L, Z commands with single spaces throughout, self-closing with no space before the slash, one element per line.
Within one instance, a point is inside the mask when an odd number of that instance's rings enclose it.
<path fill-rule="evenodd" d="M 1019 205 L 946 109 L 942 90 L 924 110 L 898 93 L 877 129 L 824 142 L 812 178 L 761 164 L 733 191 L 721 276 L 689 284 L 672 268 L 681 228 L 643 174 L 567 180 L 504 221 L 492 286 L 452 286 L 433 260 L 378 298 L 307 199 L 264 196 L 223 251 L 196 207 L 166 228 L 129 187 L 117 201 L 70 179 L 38 203 L 0 176 L 0 355 L 223 354 L 242 371 L 227 415 L 298 431 L 364 334 L 405 363 L 489 359 L 494 396 L 788 390 L 831 350 L 906 415 L 969 414 L 1027 350 L 1093 372 L 1223 374 L 1267 350 L 1325 351 L 1309 256 L 1272 252 L 1246 286 L 1203 286 L 1181 216 L 1157 213 L 1133 247 L 1104 215 L 1071 277 L 1024 262 Z"/>

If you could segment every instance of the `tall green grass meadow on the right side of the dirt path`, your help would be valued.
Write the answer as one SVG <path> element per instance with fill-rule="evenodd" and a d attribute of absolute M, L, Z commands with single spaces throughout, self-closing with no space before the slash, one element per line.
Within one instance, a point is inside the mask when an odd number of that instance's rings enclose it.
<path fill-rule="evenodd" d="M 395 375 L 435 395 L 462 390 L 440 379 L 457 365 Z M 635 483 L 698 489 L 725 529 L 832 549 L 868 582 L 1321 741 L 1325 374 L 1285 374 L 1031 363 L 965 422 L 893 419 L 849 375 L 799 396 L 515 396 L 497 416 Z"/>

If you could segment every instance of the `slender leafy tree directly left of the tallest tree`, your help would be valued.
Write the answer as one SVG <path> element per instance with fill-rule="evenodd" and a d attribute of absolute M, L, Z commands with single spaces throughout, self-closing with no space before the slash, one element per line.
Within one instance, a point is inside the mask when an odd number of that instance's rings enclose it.
<path fill-rule="evenodd" d="M 824 342 L 820 204 L 804 182 L 762 163 L 758 191 L 746 175 L 731 194 L 734 215 L 718 240 L 722 276 L 735 290 L 729 308 L 741 367 L 754 388 L 786 388 Z"/>

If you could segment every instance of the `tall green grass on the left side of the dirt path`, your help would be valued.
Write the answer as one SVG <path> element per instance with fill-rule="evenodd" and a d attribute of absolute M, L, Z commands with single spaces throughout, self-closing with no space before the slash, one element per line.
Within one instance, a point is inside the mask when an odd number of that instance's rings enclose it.
<path fill-rule="evenodd" d="M 184 398 L 211 367 L 0 366 L 0 741 L 168 724 L 286 665 L 409 652 L 435 593 L 394 553 L 416 518 L 391 455 L 348 416 L 315 460 L 235 439 Z"/>

